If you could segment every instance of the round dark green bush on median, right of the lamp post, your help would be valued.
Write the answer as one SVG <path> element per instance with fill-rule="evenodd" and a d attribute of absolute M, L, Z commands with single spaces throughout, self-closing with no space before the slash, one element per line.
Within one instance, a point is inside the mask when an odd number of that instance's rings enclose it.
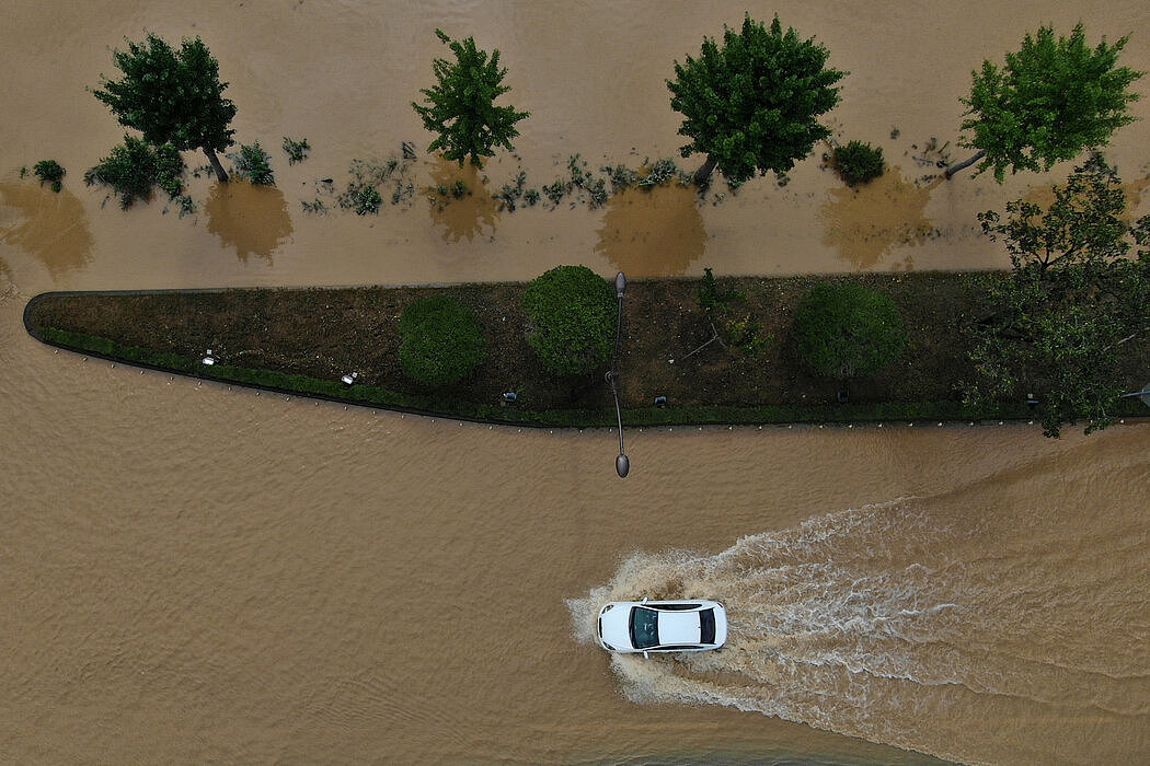
<path fill-rule="evenodd" d="M 906 346 L 894 301 L 852 281 L 815 285 L 795 310 L 799 356 L 815 372 L 868 377 L 898 358 Z"/>

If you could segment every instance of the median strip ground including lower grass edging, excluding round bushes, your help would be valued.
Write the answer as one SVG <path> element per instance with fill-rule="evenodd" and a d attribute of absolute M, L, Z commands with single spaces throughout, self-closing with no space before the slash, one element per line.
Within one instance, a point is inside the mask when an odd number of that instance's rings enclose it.
<path fill-rule="evenodd" d="M 966 331 L 986 311 L 980 285 L 994 278 L 937 272 L 631 280 L 619 362 L 623 420 L 677 426 L 1027 418 L 1023 401 L 980 410 L 963 402 Z M 890 297 L 907 328 L 897 361 L 851 380 L 802 363 L 792 314 L 826 280 L 858 281 Z M 526 340 L 522 291 L 522 284 L 498 283 L 48 293 L 29 303 L 25 325 L 61 348 L 274 392 L 484 423 L 614 425 L 603 371 L 555 377 L 542 367 Z M 466 380 L 438 387 L 408 379 L 398 358 L 404 309 L 431 295 L 467 307 L 488 349 Z M 208 349 L 213 365 L 201 363 Z M 343 382 L 352 372 L 354 385 Z M 513 402 L 506 393 L 515 393 Z M 1135 415 L 1137 404 L 1119 407 Z"/>

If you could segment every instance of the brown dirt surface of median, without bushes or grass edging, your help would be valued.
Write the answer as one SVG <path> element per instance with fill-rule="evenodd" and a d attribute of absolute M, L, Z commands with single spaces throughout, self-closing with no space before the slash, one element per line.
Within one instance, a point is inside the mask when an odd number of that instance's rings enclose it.
<path fill-rule="evenodd" d="M 620 353 L 627 408 L 666 396 L 673 405 L 829 404 L 845 381 L 810 373 L 795 354 L 791 312 L 807 289 L 834 277 L 721 278 L 722 308 L 699 304 L 699 279 L 632 280 L 624 300 Z M 961 274 L 852 276 L 890 295 L 908 328 L 903 357 L 867 380 L 850 381 L 852 402 L 958 401 L 966 372 L 964 327 L 979 293 Z M 603 371 L 555 378 L 527 343 L 521 284 L 450 287 L 224 289 L 61 294 L 30 307 L 33 326 L 55 327 L 198 359 L 337 380 L 407 394 L 425 388 L 399 366 L 398 320 L 404 308 L 447 292 L 476 315 L 488 339 L 484 364 L 471 378 L 439 389 L 477 403 L 515 392 L 524 407 L 607 408 Z M 715 335 L 719 338 L 716 339 Z M 710 341 L 710 342 L 708 342 Z"/>

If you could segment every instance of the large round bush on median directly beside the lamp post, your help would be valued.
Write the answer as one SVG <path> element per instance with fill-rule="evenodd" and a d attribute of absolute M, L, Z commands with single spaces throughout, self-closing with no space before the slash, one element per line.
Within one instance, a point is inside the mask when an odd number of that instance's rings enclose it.
<path fill-rule="evenodd" d="M 611 356 L 615 333 L 615 292 L 586 266 L 558 266 L 523 291 L 532 328 L 528 342 L 552 374 L 578 374 Z"/>

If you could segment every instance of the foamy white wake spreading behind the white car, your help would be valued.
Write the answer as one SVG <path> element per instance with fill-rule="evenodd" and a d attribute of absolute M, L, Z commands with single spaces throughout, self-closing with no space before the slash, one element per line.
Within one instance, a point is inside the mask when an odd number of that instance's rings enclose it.
<path fill-rule="evenodd" d="M 1059 618 L 1065 583 L 1056 563 L 1041 563 L 1056 562 L 1057 549 L 987 551 L 986 532 L 976 510 L 957 519 L 899 498 L 750 535 L 713 556 L 636 552 L 610 582 L 567 603 L 585 643 L 606 601 L 726 603 L 720 651 L 612 656 L 636 703 L 727 705 L 958 758 L 969 757 L 953 744 L 969 724 L 954 710 L 1145 714 L 1147 696 L 1128 684 L 1145 684 L 1145 661 L 1132 674 L 1121 656 L 1106 658 L 1099 672 L 1095 617 Z M 1110 605 L 1136 598 L 1109 595 Z M 914 730 L 922 721 L 931 736 Z"/>

